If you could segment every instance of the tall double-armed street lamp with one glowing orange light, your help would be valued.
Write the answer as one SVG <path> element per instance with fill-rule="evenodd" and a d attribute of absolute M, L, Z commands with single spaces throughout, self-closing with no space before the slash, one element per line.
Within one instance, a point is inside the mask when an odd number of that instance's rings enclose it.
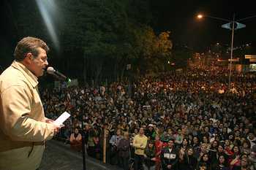
<path fill-rule="evenodd" d="M 229 80 L 228 80 L 228 88 L 230 90 L 230 81 L 231 81 L 231 66 L 232 66 L 232 60 L 233 60 L 233 42 L 234 42 L 234 31 L 239 29 L 239 28 L 244 28 L 246 27 L 244 24 L 242 23 L 238 23 L 238 21 L 241 21 L 241 20 L 246 20 L 246 19 L 249 19 L 249 18 L 255 18 L 256 15 L 252 15 L 250 17 L 246 17 L 246 18 L 242 18 L 242 19 L 239 19 L 239 20 L 235 20 L 235 14 L 233 15 L 233 20 L 227 20 L 225 18 L 218 18 L 218 17 L 213 17 L 213 16 L 210 16 L 210 15 L 202 15 L 202 14 L 199 14 L 197 15 L 197 18 L 198 19 L 201 19 L 201 18 L 214 18 L 216 20 L 224 20 L 224 21 L 227 21 L 229 23 L 225 23 L 222 25 L 222 28 L 227 28 L 227 29 L 230 29 L 232 31 L 232 36 L 231 36 L 231 52 L 230 52 L 230 75 L 229 75 Z"/>

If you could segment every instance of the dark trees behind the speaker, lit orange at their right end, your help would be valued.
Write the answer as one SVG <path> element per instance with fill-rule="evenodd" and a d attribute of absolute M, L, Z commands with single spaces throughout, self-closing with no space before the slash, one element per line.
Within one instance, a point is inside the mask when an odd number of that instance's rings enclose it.
<path fill-rule="evenodd" d="M 1 50 L 2 55 L 8 55 L 4 63 L 12 61 L 12 49 L 19 39 L 37 36 L 51 48 L 50 65 L 82 82 L 98 83 L 130 74 L 166 71 L 170 67 L 167 61 L 175 53 L 171 51 L 170 31 L 153 29 L 158 17 L 153 3 L 146 0 L 5 1 L 13 40 L 10 47 L 1 47 L 9 49 L 8 53 Z M 43 19 L 44 10 L 39 7 L 45 9 L 44 15 L 49 20 Z M 46 23 L 52 23 L 56 41 Z M 127 64 L 132 66 L 129 71 Z"/>

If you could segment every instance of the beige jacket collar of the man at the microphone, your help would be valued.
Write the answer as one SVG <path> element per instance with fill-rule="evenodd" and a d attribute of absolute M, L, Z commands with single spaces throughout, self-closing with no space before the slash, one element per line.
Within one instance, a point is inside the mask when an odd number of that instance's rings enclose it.
<path fill-rule="evenodd" d="M 26 80 L 29 81 L 33 88 L 38 85 L 37 77 L 29 69 L 27 69 L 26 66 L 23 65 L 23 63 L 13 61 L 12 67 L 22 72 L 22 74 L 26 77 Z"/>

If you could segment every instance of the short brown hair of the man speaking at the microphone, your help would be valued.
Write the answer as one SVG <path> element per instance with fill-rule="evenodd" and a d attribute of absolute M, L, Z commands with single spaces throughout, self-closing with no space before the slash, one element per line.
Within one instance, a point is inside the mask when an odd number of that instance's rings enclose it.
<path fill-rule="evenodd" d="M 26 58 L 27 53 L 32 53 L 34 57 L 37 58 L 37 55 L 39 54 L 37 49 L 39 47 L 44 49 L 46 53 L 49 50 L 49 47 L 45 42 L 42 41 L 42 39 L 37 39 L 31 36 L 21 39 L 20 42 L 18 42 L 18 45 L 15 47 L 15 61 L 23 61 L 23 59 Z"/>

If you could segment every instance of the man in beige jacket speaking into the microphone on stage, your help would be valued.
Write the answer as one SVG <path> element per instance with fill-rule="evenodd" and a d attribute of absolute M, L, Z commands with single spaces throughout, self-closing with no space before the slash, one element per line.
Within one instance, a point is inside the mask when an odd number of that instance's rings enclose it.
<path fill-rule="evenodd" d="M 0 170 L 38 169 L 45 141 L 59 131 L 45 117 L 37 86 L 48 50 L 41 39 L 21 39 L 15 61 L 0 75 Z"/>

